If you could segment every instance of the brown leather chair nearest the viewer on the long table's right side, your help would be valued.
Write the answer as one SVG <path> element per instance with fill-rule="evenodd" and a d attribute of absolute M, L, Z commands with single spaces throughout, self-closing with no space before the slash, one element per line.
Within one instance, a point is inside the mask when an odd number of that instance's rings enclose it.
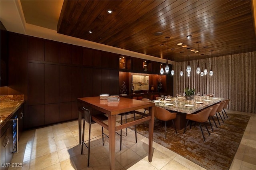
<path fill-rule="evenodd" d="M 205 122 L 208 120 L 208 117 L 209 117 L 211 111 L 212 111 L 212 107 L 204 109 L 204 110 L 202 110 L 198 113 L 195 113 L 195 114 L 187 114 L 186 119 L 188 121 L 186 123 L 186 127 L 184 128 L 183 134 L 185 134 L 185 131 L 186 131 L 186 128 L 188 126 L 189 121 L 198 122 L 199 126 L 200 126 L 200 129 L 201 129 L 201 132 L 202 132 L 202 135 L 203 135 L 203 138 L 204 138 L 204 141 L 205 141 L 204 132 L 202 130 L 201 123 L 204 123 L 204 126 L 206 127 L 206 130 L 208 131 L 208 134 L 210 135 L 210 132 L 209 132 L 207 126 L 205 125 Z M 190 123 L 190 129 L 191 129 L 191 123 Z"/>

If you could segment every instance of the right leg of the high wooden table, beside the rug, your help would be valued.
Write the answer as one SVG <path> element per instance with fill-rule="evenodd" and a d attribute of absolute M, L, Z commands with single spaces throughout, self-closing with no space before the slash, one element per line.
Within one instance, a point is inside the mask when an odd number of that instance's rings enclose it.
<path fill-rule="evenodd" d="M 149 115 L 151 119 L 149 120 L 148 123 L 148 162 L 151 162 L 153 157 L 154 112 L 155 107 L 150 107 Z"/>

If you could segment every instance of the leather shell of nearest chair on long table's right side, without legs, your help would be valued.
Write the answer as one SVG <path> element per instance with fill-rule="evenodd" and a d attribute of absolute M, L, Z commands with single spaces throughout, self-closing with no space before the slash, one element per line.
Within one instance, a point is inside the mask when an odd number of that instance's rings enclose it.
<path fill-rule="evenodd" d="M 208 121 L 208 117 L 209 117 L 211 111 L 212 111 L 212 107 L 209 107 L 207 109 L 203 109 L 202 111 L 200 111 L 196 114 L 187 114 L 186 119 L 204 123 L 204 122 Z"/>

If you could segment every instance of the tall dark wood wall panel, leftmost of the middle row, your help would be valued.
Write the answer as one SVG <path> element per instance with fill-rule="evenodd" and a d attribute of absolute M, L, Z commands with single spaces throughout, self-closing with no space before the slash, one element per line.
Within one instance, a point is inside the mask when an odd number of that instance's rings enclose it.
<path fill-rule="evenodd" d="M 28 105 L 44 104 L 44 64 L 28 63 Z"/>

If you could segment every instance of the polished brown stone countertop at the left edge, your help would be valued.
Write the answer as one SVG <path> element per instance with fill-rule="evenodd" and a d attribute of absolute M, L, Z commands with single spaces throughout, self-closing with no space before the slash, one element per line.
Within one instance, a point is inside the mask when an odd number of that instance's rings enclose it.
<path fill-rule="evenodd" d="M 24 103 L 24 95 L 0 96 L 0 126 L 1 128 Z"/>

